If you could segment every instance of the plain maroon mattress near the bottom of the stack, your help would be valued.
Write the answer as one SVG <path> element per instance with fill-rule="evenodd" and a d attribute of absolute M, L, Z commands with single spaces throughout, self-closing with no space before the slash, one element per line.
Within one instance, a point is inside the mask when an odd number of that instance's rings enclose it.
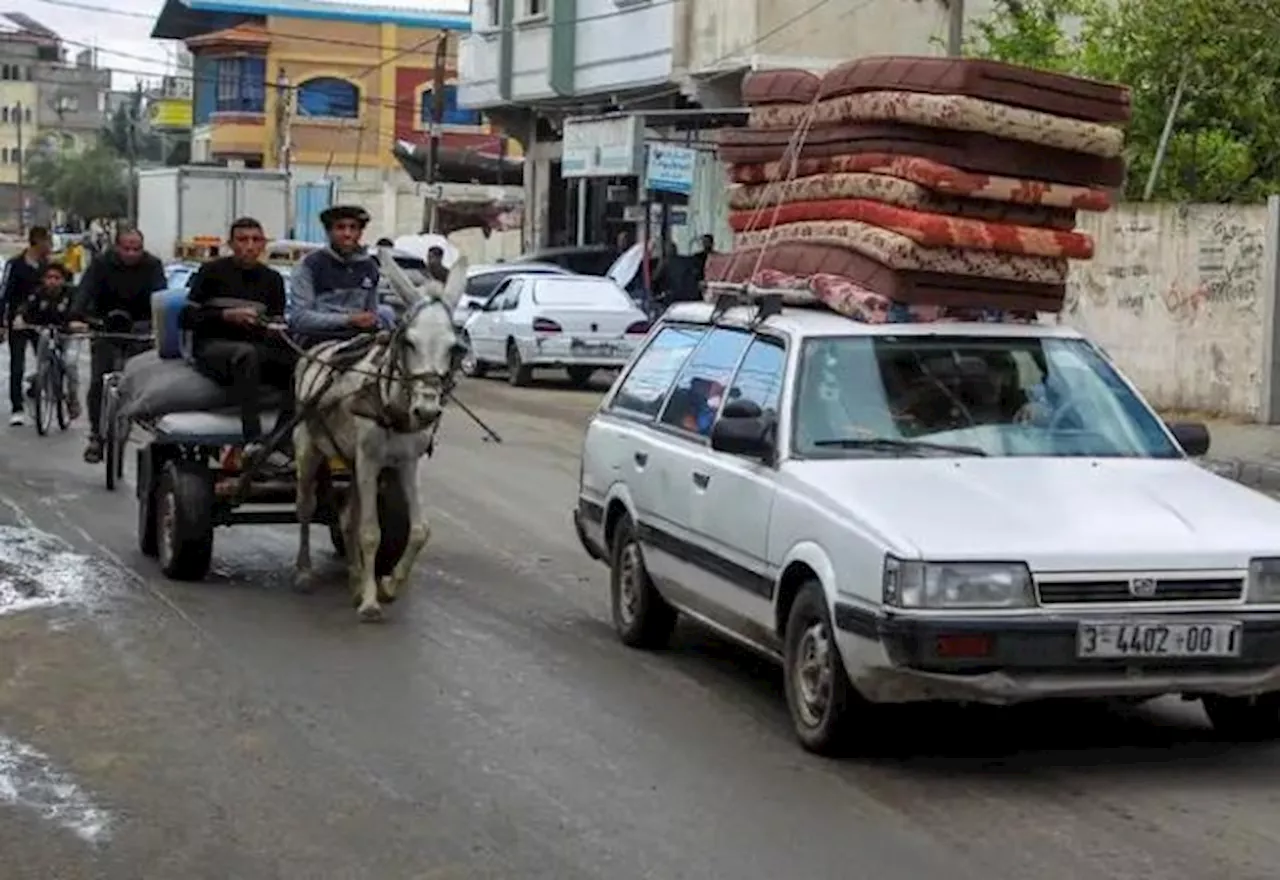
<path fill-rule="evenodd" d="M 1066 285 L 993 281 L 966 275 L 896 271 L 860 253 L 832 244 L 783 243 L 759 249 L 716 253 L 707 261 L 708 281 L 746 283 L 759 269 L 788 275 L 840 275 L 867 290 L 910 306 L 1000 308 L 1059 312 Z"/>

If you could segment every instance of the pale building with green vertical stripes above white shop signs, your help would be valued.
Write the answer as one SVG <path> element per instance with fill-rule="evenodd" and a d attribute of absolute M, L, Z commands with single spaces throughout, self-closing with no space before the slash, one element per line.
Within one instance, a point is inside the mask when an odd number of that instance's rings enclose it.
<path fill-rule="evenodd" d="M 970 0 L 966 15 L 986 17 L 992 6 Z M 641 142 L 692 151 L 685 153 L 680 210 L 664 208 L 662 221 L 664 235 L 685 248 L 704 233 L 727 240 L 724 178 L 709 130 L 742 119 L 733 111 L 748 72 L 943 54 L 948 17 L 946 0 L 808 8 L 794 0 L 475 0 L 458 54 L 460 97 L 525 143 L 529 247 L 635 234 L 636 211 L 646 216 L 641 203 L 653 196 L 644 185 L 644 143 L 620 153 L 634 137 L 616 115 L 572 125 L 568 146 L 564 125 L 573 116 L 639 114 Z M 566 150 L 576 153 L 572 161 Z M 584 174 L 584 157 L 602 151 L 627 160 Z M 566 178 L 581 183 L 566 185 Z M 595 240 L 584 242 L 584 233 Z"/>

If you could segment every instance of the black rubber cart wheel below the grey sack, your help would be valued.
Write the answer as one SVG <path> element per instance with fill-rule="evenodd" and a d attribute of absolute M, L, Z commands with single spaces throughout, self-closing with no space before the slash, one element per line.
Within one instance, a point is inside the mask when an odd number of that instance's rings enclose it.
<path fill-rule="evenodd" d="M 202 468 L 169 462 L 155 490 L 160 570 L 202 581 L 214 555 L 214 485 Z"/>

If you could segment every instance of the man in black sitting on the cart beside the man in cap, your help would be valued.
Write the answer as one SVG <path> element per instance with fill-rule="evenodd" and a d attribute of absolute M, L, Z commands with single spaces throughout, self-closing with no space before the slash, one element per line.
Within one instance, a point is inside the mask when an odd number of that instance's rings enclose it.
<path fill-rule="evenodd" d="M 211 260 L 191 280 L 183 327 L 192 331 L 196 368 L 230 390 L 241 411 L 244 452 L 253 455 L 262 437 L 262 386 L 283 395 L 280 418 L 292 412 L 293 350 L 273 336 L 269 320 L 284 321 L 284 278 L 260 262 L 266 247 L 262 224 L 241 217 L 232 224 L 232 256 Z"/>

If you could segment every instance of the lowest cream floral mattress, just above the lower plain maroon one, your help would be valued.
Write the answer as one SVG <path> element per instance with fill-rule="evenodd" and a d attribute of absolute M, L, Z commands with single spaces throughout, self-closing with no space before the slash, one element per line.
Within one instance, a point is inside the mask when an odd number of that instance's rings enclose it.
<path fill-rule="evenodd" d="M 762 248 L 774 243 L 812 242 L 855 251 L 896 270 L 972 275 L 1005 281 L 1066 284 L 1065 257 L 1032 257 L 955 247 L 922 247 L 906 235 L 858 220 L 813 220 L 740 233 L 735 247 Z M 873 288 L 874 289 L 874 288 Z"/>

